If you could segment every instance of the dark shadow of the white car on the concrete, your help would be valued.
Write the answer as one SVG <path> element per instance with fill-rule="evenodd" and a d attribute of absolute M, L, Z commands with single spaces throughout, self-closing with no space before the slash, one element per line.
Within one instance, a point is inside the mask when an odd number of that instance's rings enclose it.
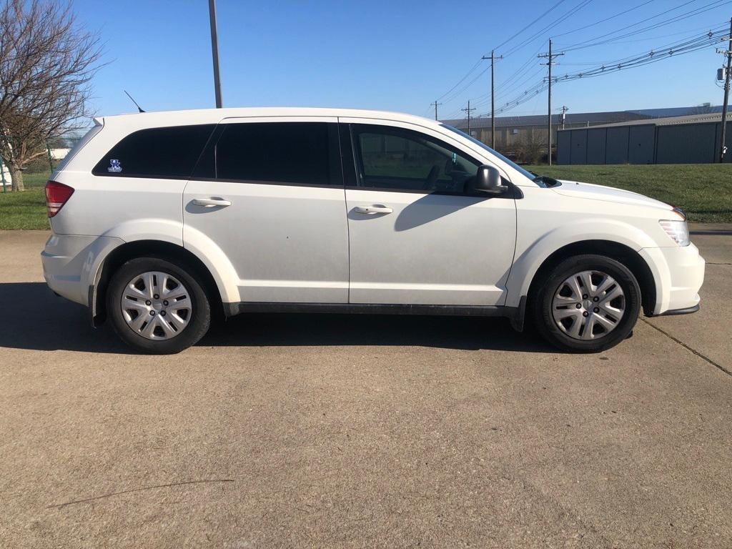
<path fill-rule="evenodd" d="M 108 324 L 91 327 L 85 307 L 53 295 L 45 283 L 0 283 L 0 303 L 16 311 L 0 326 L 0 347 L 135 354 Z M 556 352 L 504 318 L 244 314 L 217 321 L 199 346 L 424 346 Z"/>

